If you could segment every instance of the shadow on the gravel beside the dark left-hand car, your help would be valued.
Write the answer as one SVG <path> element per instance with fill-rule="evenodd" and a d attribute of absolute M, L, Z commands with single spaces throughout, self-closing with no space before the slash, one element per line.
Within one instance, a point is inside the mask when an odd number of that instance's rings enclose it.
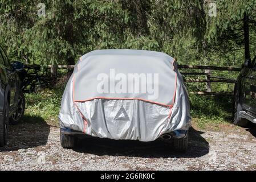
<path fill-rule="evenodd" d="M 46 145 L 50 126 L 41 117 L 25 115 L 18 125 L 9 126 L 9 142 L 0 151 L 17 151 Z"/>

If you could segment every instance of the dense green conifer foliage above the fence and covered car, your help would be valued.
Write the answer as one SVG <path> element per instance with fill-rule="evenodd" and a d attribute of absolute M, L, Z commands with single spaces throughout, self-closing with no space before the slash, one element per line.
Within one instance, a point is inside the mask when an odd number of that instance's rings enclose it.
<path fill-rule="evenodd" d="M 39 1 L 0 0 L 0 43 L 11 60 L 27 64 L 74 64 L 93 49 L 130 48 L 189 64 L 219 57 L 218 64 L 233 65 L 224 56 L 234 55 L 241 65 L 241 20 L 243 13 L 253 17 L 255 38 L 255 1 L 216 1 L 217 16 L 210 17 L 212 1 L 203 0 L 47 0 L 46 16 L 39 17 Z"/>

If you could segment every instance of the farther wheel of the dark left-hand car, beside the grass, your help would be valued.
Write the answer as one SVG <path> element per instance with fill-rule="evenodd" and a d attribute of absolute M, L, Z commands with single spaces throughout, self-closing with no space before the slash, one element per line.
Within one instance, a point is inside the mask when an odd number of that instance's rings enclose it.
<path fill-rule="evenodd" d="M 19 120 L 23 117 L 25 112 L 25 96 L 22 91 L 19 92 L 18 105 L 15 113 L 10 117 L 10 123 L 16 125 Z"/>

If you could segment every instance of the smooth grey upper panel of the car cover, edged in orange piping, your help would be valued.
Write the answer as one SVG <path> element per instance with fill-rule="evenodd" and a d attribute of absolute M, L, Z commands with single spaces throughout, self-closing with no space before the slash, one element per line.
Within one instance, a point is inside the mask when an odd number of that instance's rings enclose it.
<path fill-rule="evenodd" d="M 106 49 L 87 53 L 75 66 L 73 100 L 143 100 L 173 106 L 174 59 L 165 53 Z"/>

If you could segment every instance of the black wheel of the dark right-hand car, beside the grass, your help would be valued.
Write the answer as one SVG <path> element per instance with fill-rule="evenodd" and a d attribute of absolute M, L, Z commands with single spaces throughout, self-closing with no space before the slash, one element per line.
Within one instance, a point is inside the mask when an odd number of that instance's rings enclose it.
<path fill-rule="evenodd" d="M 243 111 L 241 102 L 239 101 L 239 89 L 238 85 L 235 85 L 235 93 L 234 93 L 234 111 L 233 111 L 233 117 L 234 117 L 234 125 L 238 126 L 246 126 L 248 124 L 248 121 L 245 118 L 239 118 L 240 111 Z"/>

